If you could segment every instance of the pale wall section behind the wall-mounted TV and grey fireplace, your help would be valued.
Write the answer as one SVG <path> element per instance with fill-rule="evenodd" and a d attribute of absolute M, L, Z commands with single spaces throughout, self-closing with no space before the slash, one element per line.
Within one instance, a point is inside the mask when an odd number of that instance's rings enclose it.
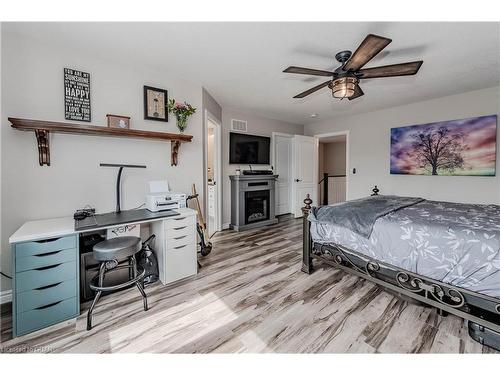
<path fill-rule="evenodd" d="M 231 119 L 247 121 L 248 134 L 271 136 L 273 132 L 304 134 L 302 125 L 290 124 L 283 121 L 272 120 L 264 117 L 242 112 L 240 110 L 224 107 L 222 110 L 222 223 L 224 226 L 231 221 L 231 182 L 230 175 L 236 173 L 237 168 L 248 169 L 248 165 L 229 164 L 229 133 Z M 258 165 L 255 169 L 266 169 L 269 166 Z"/>

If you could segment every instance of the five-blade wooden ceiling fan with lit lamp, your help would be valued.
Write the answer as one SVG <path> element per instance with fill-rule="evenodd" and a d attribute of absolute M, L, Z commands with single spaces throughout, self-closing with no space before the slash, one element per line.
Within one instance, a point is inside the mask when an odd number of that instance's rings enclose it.
<path fill-rule="evenodd" d="M 290 66 L 283 72 L 331 77 L 328 81 L 295 95 L 294 98 L 303 98 L 328 86 L 332 90 L 334 98 L 353 100 L 364 95 L 363 90 L 359 87 L 359 81 L 362 79 L 414 75 L 420 69 L 423 63 L 422 60 L 361 69 L 391 42 L 391 39 L 369 34 L 354 53 L 341 51 L 335 55 L 337 61 L 342 65 L 333 72 L 298 66 Z"/>

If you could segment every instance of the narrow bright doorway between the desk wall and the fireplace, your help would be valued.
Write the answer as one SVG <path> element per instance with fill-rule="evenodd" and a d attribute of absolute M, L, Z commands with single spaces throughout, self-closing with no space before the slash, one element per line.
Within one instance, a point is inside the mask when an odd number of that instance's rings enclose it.
<path fill-rule="evenodd" d="M 210 112 L 206 111 L 206 188 L 207 200 L 207 231 L 211 237 L 214 233 L 221 230 L 221 124 Z"/>

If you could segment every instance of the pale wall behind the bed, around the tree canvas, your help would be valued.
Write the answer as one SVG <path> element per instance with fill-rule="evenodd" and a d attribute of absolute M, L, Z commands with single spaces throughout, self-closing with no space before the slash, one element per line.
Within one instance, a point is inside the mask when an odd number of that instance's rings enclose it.
<path fill-rule="evenodd" d="M 390 128 L 498 114 L 500 88 L 394 107 L 381 111 L 308 124 L 306 135 L 349 130 L 349 196 L 371 193 L 421 196 L 456 202 L 500 203 L 500 170 L 496 177 L 406 176 L 389 174 Z M 497 150 L 500 137 L 497 137 Z M 500 154 L 497 155 L 497 159 Z M 356 168 L 356 174 L 352 169 Z M 497 163 L 498 168 L 498 163 Z"/>

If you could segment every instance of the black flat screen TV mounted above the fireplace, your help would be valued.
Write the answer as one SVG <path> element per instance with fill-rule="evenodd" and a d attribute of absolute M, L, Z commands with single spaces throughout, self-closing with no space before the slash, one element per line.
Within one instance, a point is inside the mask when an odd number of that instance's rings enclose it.
<path fill-rule="evenodd" d="M 229 133 L 230 164 L 269 164 L 271 138 Z"/>

